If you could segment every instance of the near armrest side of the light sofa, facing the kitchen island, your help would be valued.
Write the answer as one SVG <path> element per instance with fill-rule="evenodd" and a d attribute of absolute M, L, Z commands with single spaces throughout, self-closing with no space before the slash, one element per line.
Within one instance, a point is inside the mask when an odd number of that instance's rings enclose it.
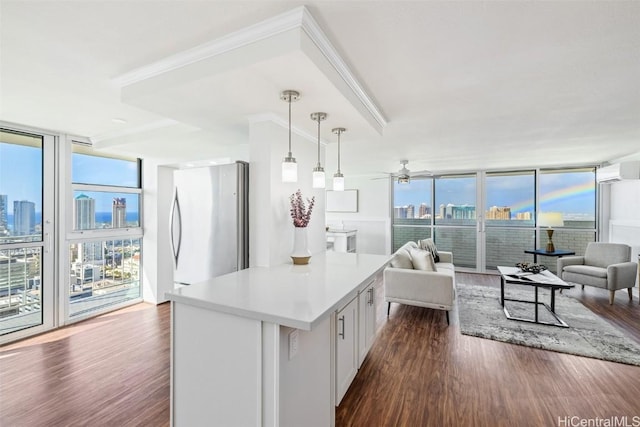
<path fill-rule="evenodd" d="M 387 267 L 384 276 L 385 300 L 426 302 L 451 306 L 454 276 L 437 271 Z"/>

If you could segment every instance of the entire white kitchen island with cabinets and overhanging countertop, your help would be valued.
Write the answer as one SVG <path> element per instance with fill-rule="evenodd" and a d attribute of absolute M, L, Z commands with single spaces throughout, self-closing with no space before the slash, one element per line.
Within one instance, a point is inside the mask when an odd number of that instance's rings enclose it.
<path fill-rule="evenodd" d="M 327 252 L 168 293 L 172 424 L 333 425 L 375 336 L 388 260 Z"/>

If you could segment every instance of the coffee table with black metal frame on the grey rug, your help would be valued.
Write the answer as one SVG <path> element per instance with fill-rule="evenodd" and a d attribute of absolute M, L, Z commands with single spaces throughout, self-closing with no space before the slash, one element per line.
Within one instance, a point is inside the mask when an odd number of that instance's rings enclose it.
<path fill-rule="evenodd" d="M 532 273 L 524 273 L 518 267 L 504 267 L 498 266 L 498 271 L 500 271 L 500 305 L 504 310 L 505 316 L 509 320 L 518 320 L 520 322 L 529 322 L 529 323 L 538 323 L 542 325 L 551 325 L 551 326 L 560 326 L 563 328 L 568 328 L 569 325 L 562 320 L 556 314 L 556 290 L 557 289 L 570 289 L 573 288 L 574 285 L 570 285 L 560 279 L 558 276 L 550 272 L 549 270 L 542 271 L 538 274 Z M 534 289 L 534 300 L 520 300 L 520 299 L 512 299 L 505 298 L 504 296 L 504 288 L 505 285 L 520 285 L 520 286 L 531 286 Z M 551 291 L 551 301 L 550 304 L 546 304 L 544 302 L 540 302 L 538 300 L 538 289 L 547 288 Z M 505 301 L 516 301 L 527 304 L 534 305 L 534 319 L 525 319 L 522 317 L 515 317 L 509 314 L 509 310 L 504 305 Z M 543 306 L 547 309 L 547 311 L 556 319 L 557 322 L 546 322 L 539 320 L 538 318 L 538 306 Z"/>

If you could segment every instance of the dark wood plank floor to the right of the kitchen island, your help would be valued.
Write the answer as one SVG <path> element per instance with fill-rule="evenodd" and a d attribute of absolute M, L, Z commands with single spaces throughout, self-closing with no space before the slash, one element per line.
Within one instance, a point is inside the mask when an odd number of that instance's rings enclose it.
<path fill-rule="evenodd" d="M 479 274 L 456 280 L 500 283 Z M 604 290 L 567 293 L 640 342 L 637 294 L 632 303 L 620 291 L 609 306 Z M 386 305 L 379 311 L 378 337 L 336 410 L 337 426 L 538 427 L 640 416 L 640 367 L 461 335 L 456 313 L 447 326 L 438 310 L 392 304 L 388 321 Z"/>

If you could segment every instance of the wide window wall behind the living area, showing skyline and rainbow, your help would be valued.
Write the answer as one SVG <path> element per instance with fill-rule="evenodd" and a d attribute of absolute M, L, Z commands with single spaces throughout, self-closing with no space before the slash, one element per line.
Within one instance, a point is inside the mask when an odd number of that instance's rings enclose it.
<path fill-rule="evenodd" d="M 393 184 L 393 250 L 408 240 L 433 237 L 452 251 L 457 267 L 495 270 L 533 261 L 525 250 L 545 248 L 541 213 L 562 219 L 557 249 L 583 254 L 597 238 L 595 168 L 531 169 L 445 175 Z M 420 215 L 418 206 L 423 206 Z M 481 210 L 476 210 L 481 206 Z M 556 258 L 541 256 L 555 271 Z"/>

